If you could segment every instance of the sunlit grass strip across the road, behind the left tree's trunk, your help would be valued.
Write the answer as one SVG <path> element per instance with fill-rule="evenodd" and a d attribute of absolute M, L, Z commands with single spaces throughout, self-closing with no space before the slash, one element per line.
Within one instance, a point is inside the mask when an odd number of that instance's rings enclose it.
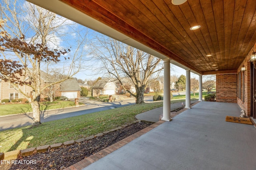
<path fill-rule="evenodd" d="M 58 109 L 75 106 L 74 102 L 58 101 L 58 104 L 41 104 L 40 110 Z M 0 105 L 0 115 L 23 114 L 32 112 L 30 104 L 2 104 Z"/>

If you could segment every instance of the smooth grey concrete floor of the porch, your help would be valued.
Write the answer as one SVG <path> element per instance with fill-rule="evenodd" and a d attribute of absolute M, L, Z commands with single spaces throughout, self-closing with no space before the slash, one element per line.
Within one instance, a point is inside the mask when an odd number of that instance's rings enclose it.
<path fill-rule="evenodd" d="M 83 170 L 254 170 L 256 128 L 234 103 L 199 102 Z"/>

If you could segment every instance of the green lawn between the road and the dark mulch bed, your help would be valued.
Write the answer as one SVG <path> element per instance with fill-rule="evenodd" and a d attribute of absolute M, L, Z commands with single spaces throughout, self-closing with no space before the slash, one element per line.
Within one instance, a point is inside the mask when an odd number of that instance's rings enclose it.
<path fill-rule="evenodd" d="M 175 100 L 171 103 L 184 101 Z M 50 121 L 38 127 L 28 126 L 0 131 L 0 152 L 63 143 L 96 135 L 136 120 L 135 115 L 139 113 L 162 106 L 162 101 L 124 106 Z"/>

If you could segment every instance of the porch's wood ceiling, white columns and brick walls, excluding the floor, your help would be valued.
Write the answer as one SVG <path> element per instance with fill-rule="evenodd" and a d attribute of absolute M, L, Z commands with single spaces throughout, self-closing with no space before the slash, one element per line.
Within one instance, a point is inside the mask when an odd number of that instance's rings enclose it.
<path fill-rule="evenodd" d="M 186 70 L 187 108 L 190 72 L 200 93 L 202 76 L 216 74 L 216 101 L 256 119 L 255 0 L 28 1 L 163 59 L 163 120 L 171 120 L 170 63 Z"/>

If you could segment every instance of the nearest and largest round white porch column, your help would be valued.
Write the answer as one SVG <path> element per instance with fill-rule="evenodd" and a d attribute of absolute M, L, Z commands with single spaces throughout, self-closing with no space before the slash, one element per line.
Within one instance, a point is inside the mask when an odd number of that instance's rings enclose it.
<path fill-rule="evenodd" d="M 161 120 L 171 121 L 170 59 L 164 59 L 164 106 Z"/>

